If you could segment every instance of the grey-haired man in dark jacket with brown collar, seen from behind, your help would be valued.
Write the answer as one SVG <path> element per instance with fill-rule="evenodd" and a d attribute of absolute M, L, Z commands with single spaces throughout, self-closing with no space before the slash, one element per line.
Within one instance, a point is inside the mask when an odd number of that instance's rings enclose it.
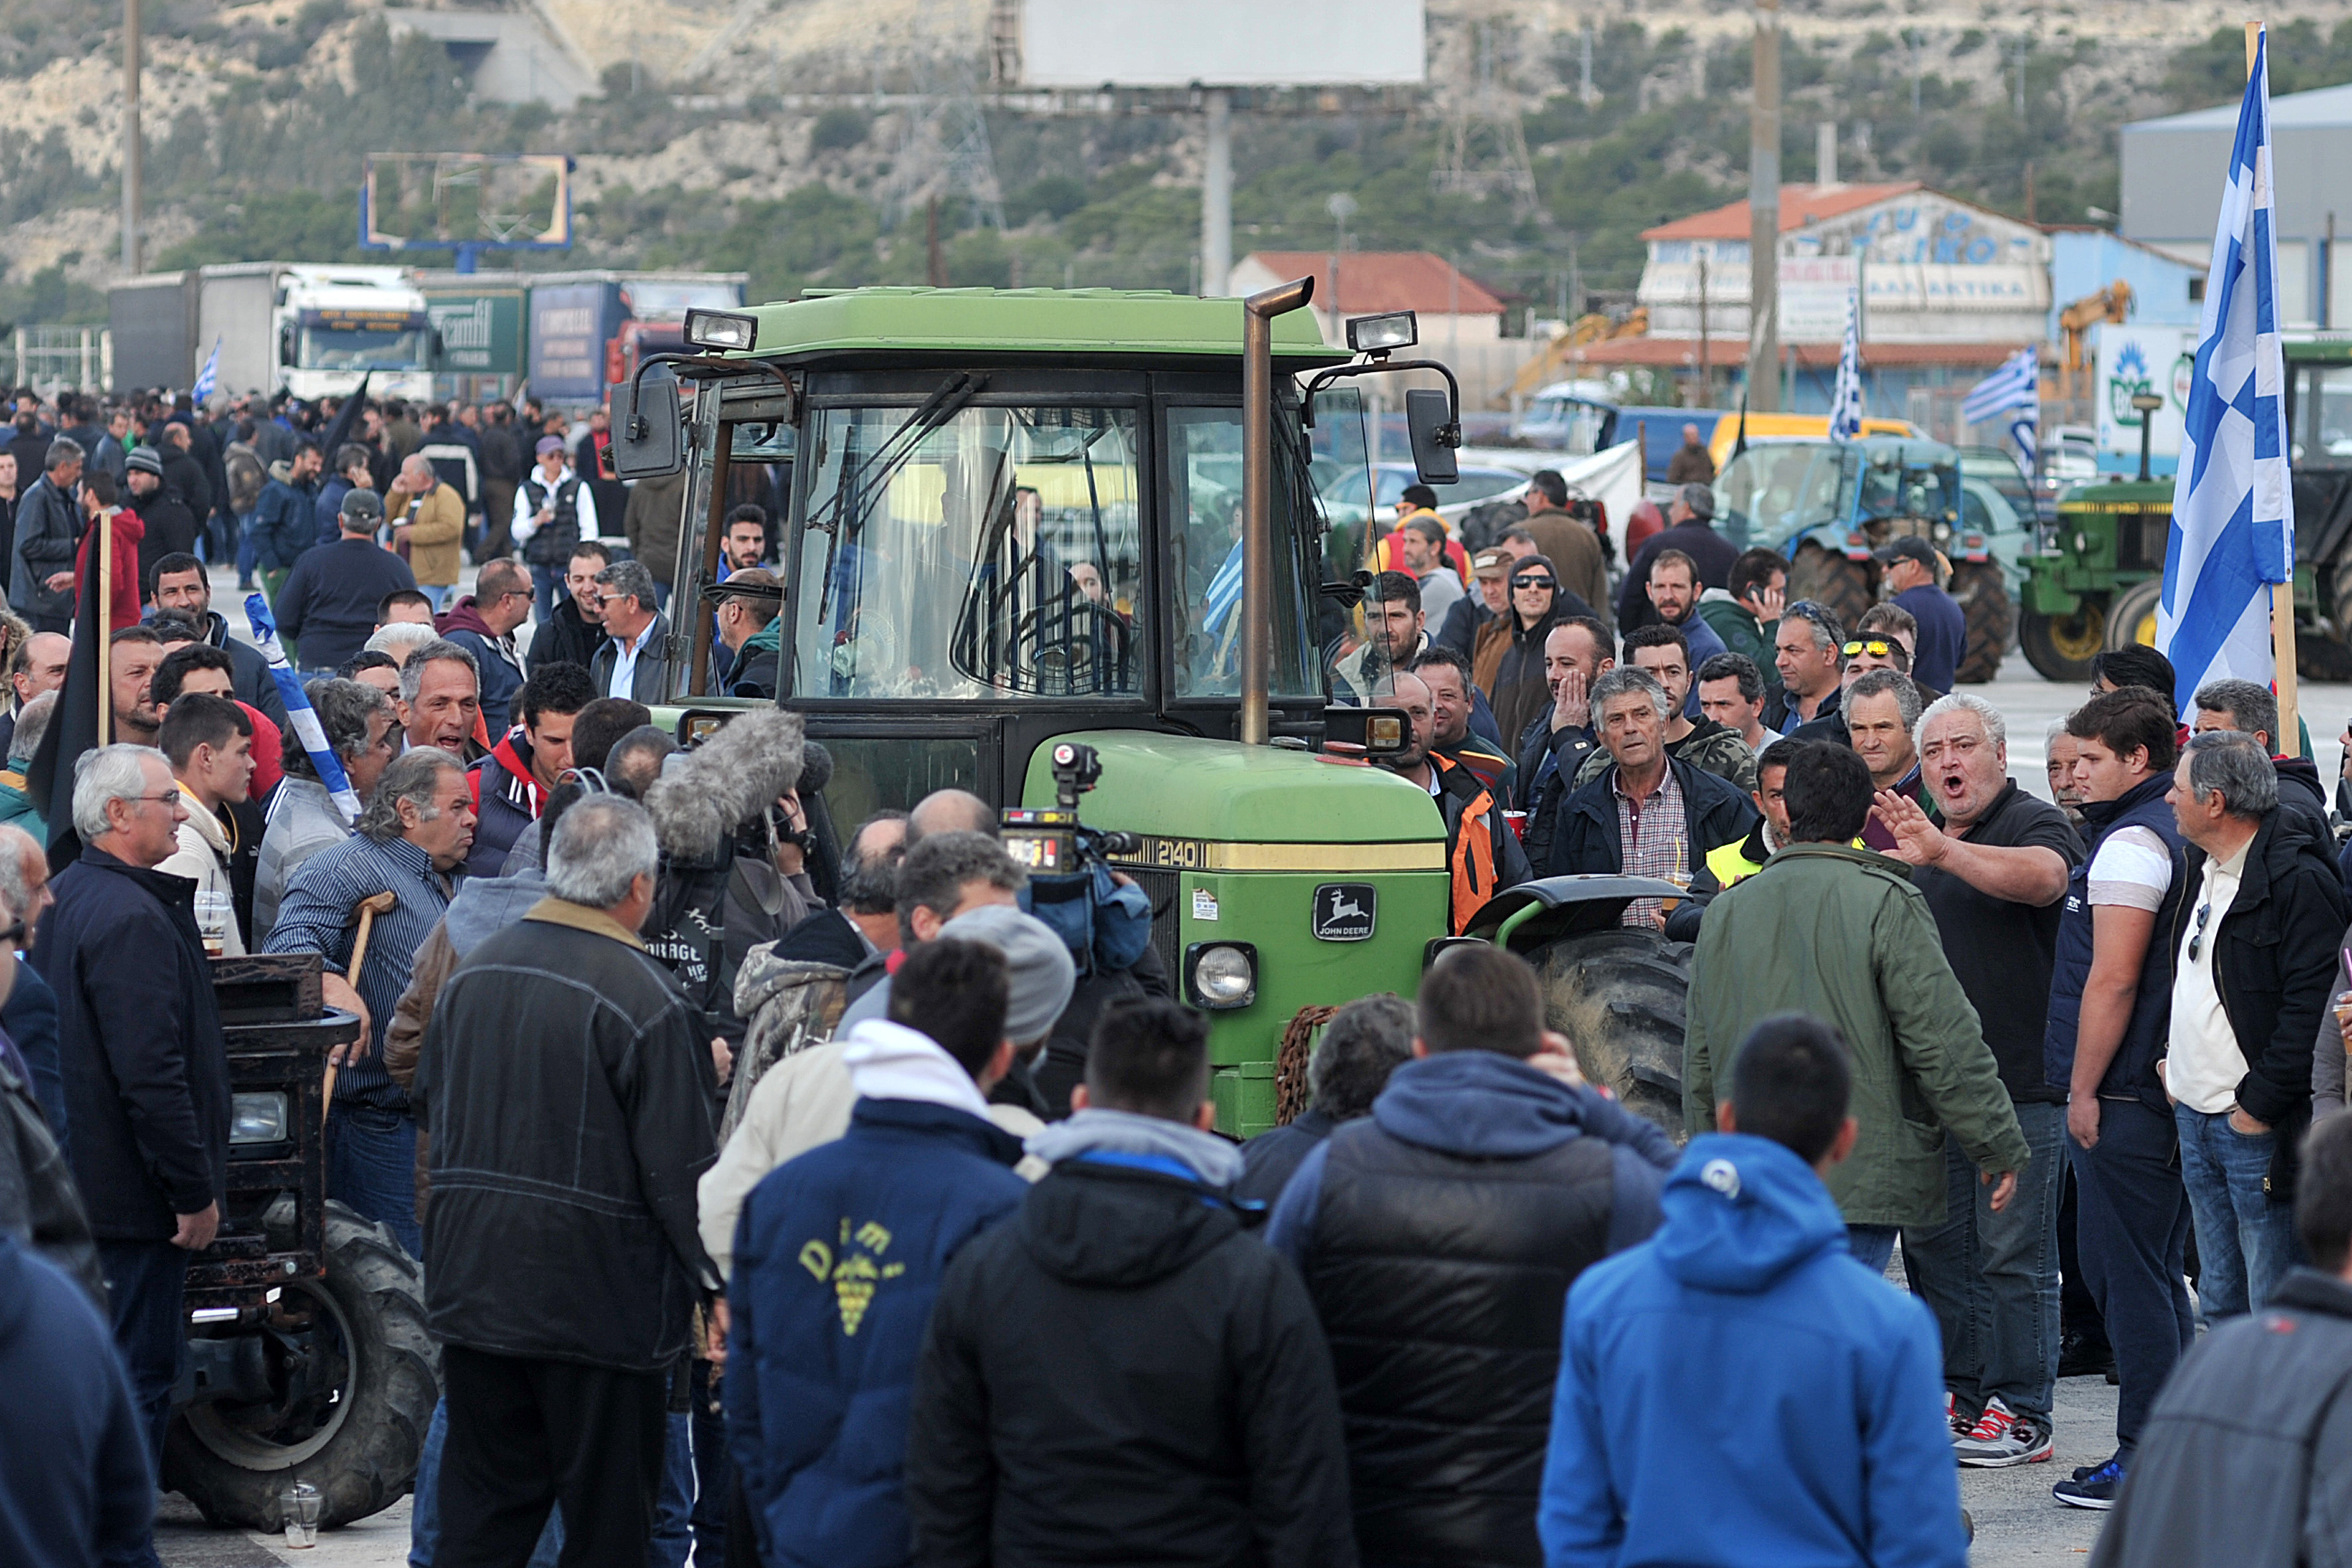
<path fill-rule="evenodd" d="M 557 1505 L 579 1561 L 642 1563 L 654 1530 L 668 1375 L 720 1291 L 694 1234 L 717 1079 L 637 940 L 659 863 L 635 802 L 572 806 L 548 898 L 466 954 L 426 1032 L 440 1528 L 466 1561 L 520 1563 Z"/>

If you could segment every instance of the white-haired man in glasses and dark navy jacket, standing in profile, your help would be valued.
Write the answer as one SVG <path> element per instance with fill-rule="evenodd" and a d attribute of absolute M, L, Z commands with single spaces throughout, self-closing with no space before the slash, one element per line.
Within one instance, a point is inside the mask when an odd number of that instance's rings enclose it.
<path fill-rule="evenodd" d="M 73 766 L 82 856 L 56 877 L 33 966 L 56 992 L 73 1182 L 89 1208 L 115 1347 L 162 1474 L 188 1253 L 228 1187 L 228 1051 L 193 886 L 155 867 L 183 816 L 169 759 L 101 745 Z"/>

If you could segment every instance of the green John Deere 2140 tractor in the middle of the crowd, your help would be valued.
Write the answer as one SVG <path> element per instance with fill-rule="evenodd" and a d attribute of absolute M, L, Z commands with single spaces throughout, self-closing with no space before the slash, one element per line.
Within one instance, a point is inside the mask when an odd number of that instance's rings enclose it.
<path fill-rule="evenodd" d="M 1242 301 L 851 289 L 724 324 L 741 348 L 677 364 L 680 736 L 746 701 L 706 599 L 717 524 L 781 496 L 776 701 L 833 752 L 833 818 L 941 788 L 1049 809 L 1054 745 L 1091 745 L 1084 820 L 1136 835 L 1112 865 L 1150 893 L 1176 994 L 1211 1018 L 1221 1126 L 1270 1126 L 1301 1009 L 1411 994 L 1446 933 L 1432 799 L 1319 750 L 1327 642 L 1348 639 L 1331 578 L 1362 541 L 1327 538 L 1312 458 L 1369 468 L 1367 428 L 1352 393 L 1327 393 L 1305 430 L 1294 376 L 1350 355 L 1305 313 L 1270 322 L 1270 743 L 1244 745 Z M 616 390 L 616 433 L 642 407 Z"/>

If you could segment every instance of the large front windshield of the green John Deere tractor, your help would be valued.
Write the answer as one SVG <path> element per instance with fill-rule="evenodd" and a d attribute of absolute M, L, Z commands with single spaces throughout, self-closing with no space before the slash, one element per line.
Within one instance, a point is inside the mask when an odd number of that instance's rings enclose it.
<path fill-rule="evenodd" d="M 811 435 L 804 696 L 1143 691 L 1131 409 L 821 409 Z"/>

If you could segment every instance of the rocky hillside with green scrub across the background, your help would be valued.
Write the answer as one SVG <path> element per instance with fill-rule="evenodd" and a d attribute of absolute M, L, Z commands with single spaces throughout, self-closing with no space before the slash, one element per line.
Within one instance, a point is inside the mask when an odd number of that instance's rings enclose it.
<path fill-rule="evenodd" d="M 440 0 L 447 2 L 447 0 Z M 572 113 L 475 101 L 440 45 L 374 0 L 151 0 L 148 261 L 353 252 L 369 150 L 567 150 L 581 242 L 560 266 L 729 266 L 809 282 L 1190 287 L 1200 141 L 1176 106 L 1037 115 L 985 89 L 988 0 L 513 0 L 602 80 Z M 1842 122 L 1846 179 L 1929 179 L 2044 221 L 2114 205 L 2114 127 L 2234 89 L 2237 7 L 2079 0 L 1997 9 L 1785 0 L 1790 179 Z M 2288 0 L 2277 89 L 2352 80 L 2352 0 Z M 2286 33 L 2291 28 L 2291 33 Z M 1588 45 L 1590 40 L 1590 45 Z M 1430 87 L 1301 113 L 1240 103 L 1237 249 L 1449 249 L 1545 313 L 1623 289 L 1642 226 L 1745 181 L 1745 7 L 1430 0 Z M 1590 96 L 1585 56 L 1590 52 Z M 1449 115 L 1517 110 L 1536 202 L 1439 190 Z M 0 320 L 89 320 L 118 268 L 120 9 L 0 0 Z M 978 80 L 1002 228 L 950 179 Z M 2023 110 L 2023 113 L 2020 113 Z M 1470 125 L 1479 146 L 1482 125 Z M 1477 155 L 1472 158 L 1477 162 Z M 2032 190 L 2032 197 L 2027 197 Z M 543 266 L 555 266 L 546 261 Z"/>

